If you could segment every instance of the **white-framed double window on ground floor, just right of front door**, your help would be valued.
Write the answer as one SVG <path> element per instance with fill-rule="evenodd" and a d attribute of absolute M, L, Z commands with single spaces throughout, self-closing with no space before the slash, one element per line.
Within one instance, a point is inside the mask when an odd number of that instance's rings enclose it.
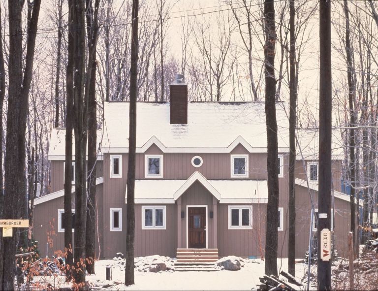
<path fill-rule="evenodd" d="M 252 229 L 252 207 L 229 205 L 228 229 Z"/>

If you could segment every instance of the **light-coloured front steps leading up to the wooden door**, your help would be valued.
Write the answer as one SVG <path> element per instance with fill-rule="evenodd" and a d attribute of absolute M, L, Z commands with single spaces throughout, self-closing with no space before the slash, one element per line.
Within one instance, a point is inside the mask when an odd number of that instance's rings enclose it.
<path fill-rule="evenodd" d="M 217 271 L 218 249 L 177 249 L 175 271 Z"/>

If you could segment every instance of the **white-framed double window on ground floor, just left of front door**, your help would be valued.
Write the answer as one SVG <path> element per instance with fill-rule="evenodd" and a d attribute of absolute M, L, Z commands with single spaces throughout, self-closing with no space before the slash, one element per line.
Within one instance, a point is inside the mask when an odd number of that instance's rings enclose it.
<path fill-rule="evenodd" d="M 166 206 L 142 206 L 142 229 L 166 229 Z"/>

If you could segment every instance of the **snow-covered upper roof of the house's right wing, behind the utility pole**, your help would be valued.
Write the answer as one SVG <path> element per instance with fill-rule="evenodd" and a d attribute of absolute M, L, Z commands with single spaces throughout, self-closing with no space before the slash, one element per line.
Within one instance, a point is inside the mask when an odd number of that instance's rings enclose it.
<path fill-rule="evenodd" d="M 297 129 L 297 160 L 318 160 L 319 129 Z M 302 154 L 301 152 L 302 151 Z M 340 129 L 332 130 L 332 159 L 344 158 L 343 140 Z"/>

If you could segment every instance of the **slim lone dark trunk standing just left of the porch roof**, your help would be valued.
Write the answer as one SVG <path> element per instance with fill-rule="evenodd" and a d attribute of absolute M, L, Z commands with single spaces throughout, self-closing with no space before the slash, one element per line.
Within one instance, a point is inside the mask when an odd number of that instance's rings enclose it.
<path fill-rule="evenodd" d="M 134 284 L 134 239 L 135 239 L 135 146 L 136 146 L 136 99 L 138 78 L 138 10 L 139 0 L 132 1 L 131 63 L 130 63 L 130 108 L 127 168 L 127 208 L 126 208 L 126 266 L 125 285 Z"/>

